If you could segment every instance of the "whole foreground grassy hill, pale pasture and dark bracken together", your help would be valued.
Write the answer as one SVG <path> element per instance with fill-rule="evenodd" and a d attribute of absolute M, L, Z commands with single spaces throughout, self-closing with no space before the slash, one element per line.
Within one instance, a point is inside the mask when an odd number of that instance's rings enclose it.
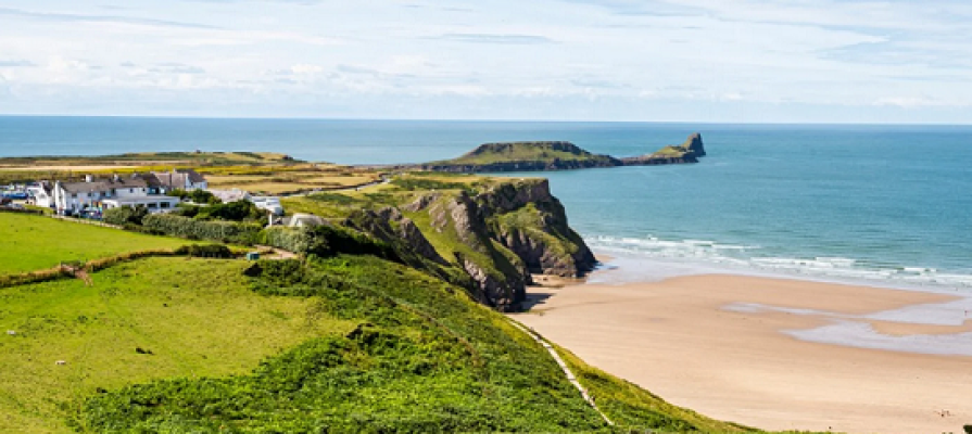
<path fill-rule="evenodd" d="M 2 341 L 18 374 L 0 382 L 0 431 L 619 431 L 462 290 L 367 256 L 261 266 L 250 278 L 239 261 L 146 259 L 96 286 L 4 294 L 14 309 L 0 327 L 23 332 Z M 608 403 L 624 387 L 592 393 Z M 626 429 L 750 431 L 659 403 L 607 411 Z"/>

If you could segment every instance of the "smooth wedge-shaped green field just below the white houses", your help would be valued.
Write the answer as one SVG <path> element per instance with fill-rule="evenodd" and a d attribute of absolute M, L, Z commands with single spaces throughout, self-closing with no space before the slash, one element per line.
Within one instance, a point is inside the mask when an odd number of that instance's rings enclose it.
<path fill-rule="evenodd" d="M 61 261 L 178 247 L 185 240 L 150 237 L 72 221 L 0 213 L 0 275 L 40 270 Z"/>

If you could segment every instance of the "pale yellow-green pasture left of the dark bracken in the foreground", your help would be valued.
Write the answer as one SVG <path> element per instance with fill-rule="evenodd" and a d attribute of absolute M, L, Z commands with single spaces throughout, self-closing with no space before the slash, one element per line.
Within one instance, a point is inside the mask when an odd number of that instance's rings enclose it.
<path fill-rule="evenodd" d="M 253 293 L 247 266 L 152 258 L 94 273 L 93 286 L 73 279 L 0 291 L 0 432 L 73 432 L 59 405 L 98 387 L 241 374 L 307 339 L 354 328 L 314 298 Z"/>

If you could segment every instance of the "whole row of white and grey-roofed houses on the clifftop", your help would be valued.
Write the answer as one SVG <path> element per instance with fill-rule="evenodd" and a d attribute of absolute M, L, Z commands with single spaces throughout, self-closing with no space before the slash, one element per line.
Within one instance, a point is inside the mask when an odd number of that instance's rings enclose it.
<path fill-rule="evenodd" d="M 104 179 L 88 175 L 84 182 L 42 182 L 27 191 L 37 206 L 53 208 L 62 215 L 74 215 L 122 206 L 144 206 L 150 212 L 165 212 L 175 208 L 180 201 L 179 197 L 167 195 L 173 190 L 207 187 L 205 177 L 187 169 L 113 175 Z"/>

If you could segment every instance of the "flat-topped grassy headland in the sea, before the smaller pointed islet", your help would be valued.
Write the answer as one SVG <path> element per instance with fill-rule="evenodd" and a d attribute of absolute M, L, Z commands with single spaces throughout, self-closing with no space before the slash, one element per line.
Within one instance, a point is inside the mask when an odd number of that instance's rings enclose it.
<path fill-rule="evenodd" d="M 516 162 L 554 162 L 555 159 L 609 162 L 610 157 L 592 154 L 570 142 L 508 142 L 481 144 L 458 158 L 431 164 L 485 165 Z"/>

